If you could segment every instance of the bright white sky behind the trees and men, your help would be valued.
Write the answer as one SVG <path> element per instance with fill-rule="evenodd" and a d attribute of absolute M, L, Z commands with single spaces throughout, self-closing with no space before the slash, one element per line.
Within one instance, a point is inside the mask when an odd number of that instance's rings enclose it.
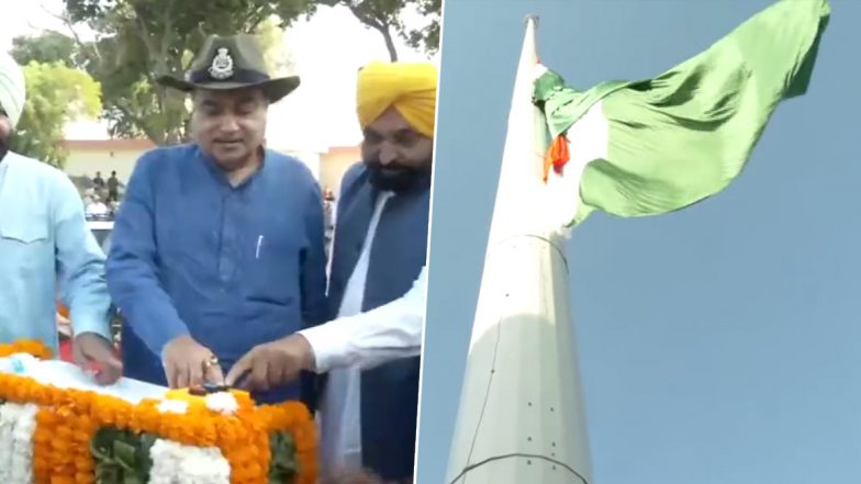
<path fill-rule="evenodd" d="M 33 0 L 0 15 L 0 48 L 11 48 L 18 35 L 45 29 L 66 32 L 51 15 L 60 12 L 62 0 Z M 424 25 L 417 15 L 405 15 L 407 25 Z M 333 33 L 349 42 L 333 42 Z M 86 32 L 85 32 L 86 33 Z M 400 40 L 398 54 L 404 61 L 438 63 Z M 284 34 L 283 48 L 295 63 L 301 86 L 272 105 L 267 136 L 278 148 L 322 150 L 332 146 L 357 146 L 361 132 L 356 121 L 356 72 L 371 60 L 389 60 L 382 36 L 366 29 L 346 8 L 321 7 L 310 20 L 295 22 Z M 91 122 L 69 127 L 70 138 L 104 138 L 107 133 Z"/>

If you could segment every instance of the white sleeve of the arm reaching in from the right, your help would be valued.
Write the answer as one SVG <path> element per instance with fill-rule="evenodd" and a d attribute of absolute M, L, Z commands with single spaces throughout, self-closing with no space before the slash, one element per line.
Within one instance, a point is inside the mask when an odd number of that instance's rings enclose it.
<path fill-rule="evenodd" d="M 336 368 L 367 370 L 422 352 L 427 268 L 402 297 L 355 316 L 299 331 L 311 344 L 317 373 Z"/>

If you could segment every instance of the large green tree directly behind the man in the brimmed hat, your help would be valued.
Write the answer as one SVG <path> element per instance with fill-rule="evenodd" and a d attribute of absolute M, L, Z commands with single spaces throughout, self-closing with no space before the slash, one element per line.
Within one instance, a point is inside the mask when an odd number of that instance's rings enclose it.
<path fill-rule="evenodd" d="M 253 33 L 268 50 L 312 0 L 64 0 L 69 25 L 86 24 L 97 40 L 78 43 L 87 70 L 102 83 L 112 135 L 181 143 L 190 117 L 186 97 L 155 79 L 182 76 L 211 34 Z M 277 49 L 276 49 L 277 50 Z M 289 58 L 267 56 L 284 70 Z"/>

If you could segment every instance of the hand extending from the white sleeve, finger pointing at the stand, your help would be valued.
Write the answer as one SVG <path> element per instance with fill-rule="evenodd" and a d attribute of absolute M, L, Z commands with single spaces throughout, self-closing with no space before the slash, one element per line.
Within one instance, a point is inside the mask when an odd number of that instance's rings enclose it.
<path fill-rule="evenodd" d="M 302 335 L 292 335 L 277 341 L 254 347 L 231 368 L 225 379 L 234 386 L 248 373 L 239 385 L 246 390 L 269 390 L 295 380 L 301 371 L 314 371 L 314 350 Z"/>

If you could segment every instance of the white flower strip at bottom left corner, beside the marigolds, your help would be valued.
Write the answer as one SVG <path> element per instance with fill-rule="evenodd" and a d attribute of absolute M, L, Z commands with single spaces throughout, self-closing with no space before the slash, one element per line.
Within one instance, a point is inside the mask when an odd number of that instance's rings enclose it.
<path fill-rule="evenodd" d="M 34 404 L 0 406 L 0 482 L 33 482 L 33 430 L 36 428 Z"/>

